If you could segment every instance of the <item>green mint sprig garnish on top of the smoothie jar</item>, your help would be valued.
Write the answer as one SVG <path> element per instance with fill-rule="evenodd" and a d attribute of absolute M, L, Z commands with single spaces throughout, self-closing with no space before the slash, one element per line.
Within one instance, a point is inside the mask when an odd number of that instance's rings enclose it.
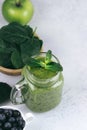
<path fill-rule="evenodd" d="M 46 53 L 45 61 L 42 61 L 40 58 L 29 58 L 27 65 L 29 65 L 30 67 L 42 67 L 50 71 L 63 71 L 63 67 L 61 66 L 61 64 L 53 62 L 51 59 L 52 52 L 51 50 L 48 50 L 48 52 Z"/>

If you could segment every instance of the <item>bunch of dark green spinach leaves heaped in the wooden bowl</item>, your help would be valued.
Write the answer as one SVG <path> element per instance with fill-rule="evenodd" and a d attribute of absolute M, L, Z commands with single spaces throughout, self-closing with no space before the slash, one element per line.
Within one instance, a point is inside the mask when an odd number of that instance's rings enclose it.
<path fill-rule="evenodd" d="M 40 52 L 43 41 L 29 25 L 12 22 L 0 28 L 0 66 L 22 68 L 27 60 Z"/>

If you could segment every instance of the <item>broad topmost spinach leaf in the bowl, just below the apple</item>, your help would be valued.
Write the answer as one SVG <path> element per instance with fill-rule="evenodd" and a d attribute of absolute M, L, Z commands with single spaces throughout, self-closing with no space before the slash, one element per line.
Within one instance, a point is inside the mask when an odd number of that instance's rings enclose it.
<path fill-rule="evenodd" d="M 12 44 L 21 44 L 29 37 L 24 26 L 13 22 L 1 28 L 0 38 Z"/>

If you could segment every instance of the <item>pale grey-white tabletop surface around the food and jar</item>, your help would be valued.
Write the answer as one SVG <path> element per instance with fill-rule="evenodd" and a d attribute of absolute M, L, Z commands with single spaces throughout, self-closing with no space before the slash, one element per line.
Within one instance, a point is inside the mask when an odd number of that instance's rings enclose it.
<path fill-rule="evenodd" d="M 0 0 L 0 6 L 3 0 Z M 87 0 L 32 0 L 35 8 L 30 25 L 63 65 L 65 84 L 59 106 L 34 113 L 26 130 L 87 130 Z M 1 11 L 0 11 L 1 12 Z M 0 26 L 7 24 L 0 13 Z M 0 81 L 14 86 L 21 76 L 0 73 Z M 12 105 L 10 102 L 3 105 Z"/>

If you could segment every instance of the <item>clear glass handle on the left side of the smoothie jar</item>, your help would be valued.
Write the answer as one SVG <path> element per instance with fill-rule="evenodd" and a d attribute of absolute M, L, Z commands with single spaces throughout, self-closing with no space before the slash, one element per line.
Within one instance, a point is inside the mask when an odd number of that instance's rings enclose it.
<path fill-rule="evenodd" d="M 24 88 L 25 79 L 19 81 L 11 90 L 10 100 L 13 104 L 23 104 L 24 97 L 21 93 L 21 89 Z"/>

